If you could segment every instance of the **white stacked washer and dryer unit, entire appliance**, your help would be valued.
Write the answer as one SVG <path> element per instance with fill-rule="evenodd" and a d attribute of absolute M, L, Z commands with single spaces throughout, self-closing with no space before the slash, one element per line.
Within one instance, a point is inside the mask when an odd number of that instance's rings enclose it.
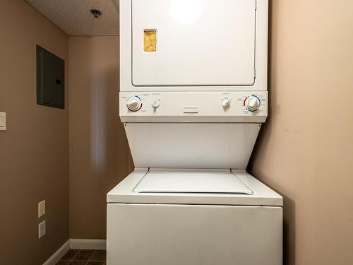
<path fill-rule="evenodd" d="M 119 8 L 136 169 L 107 194 L 107 264 L 282 264 L 282 197 L 246 172 L 268 113 L 268 0 Z"/>

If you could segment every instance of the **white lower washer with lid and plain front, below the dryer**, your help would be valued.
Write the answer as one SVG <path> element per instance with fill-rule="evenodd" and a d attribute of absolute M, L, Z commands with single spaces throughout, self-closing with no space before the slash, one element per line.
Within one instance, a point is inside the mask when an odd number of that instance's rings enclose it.
<path fill-rule="evenodd" d="M 282 264 L 282 196 L 244 171 L 138 169 L 107 201 L 109 265 Z"/>

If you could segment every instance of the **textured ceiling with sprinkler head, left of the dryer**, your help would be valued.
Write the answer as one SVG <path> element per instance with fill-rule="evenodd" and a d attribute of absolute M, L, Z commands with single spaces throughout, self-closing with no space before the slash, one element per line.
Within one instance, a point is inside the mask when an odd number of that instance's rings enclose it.
<path fill-rule="evenodd" d="M 67 35 L 118 35 L 117 0 L 25 0 Z M 102 16 L 94 18 L 91 9 Z"/>

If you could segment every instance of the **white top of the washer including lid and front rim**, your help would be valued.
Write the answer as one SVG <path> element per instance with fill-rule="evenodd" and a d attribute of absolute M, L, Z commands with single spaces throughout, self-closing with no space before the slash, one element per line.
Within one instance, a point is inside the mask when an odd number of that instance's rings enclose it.
<path fill-rule="evenodd" d="M 186 179 L 187 177 L 190 179 Z M 181 179 L 185 182 L 181 182 Z M 266 187 L 245 170 L 230 173 L 229 170 L 136 168 L 108 192 L 107 202 L 109 204 L 283 206 L 283 198 L 280 194 Z"/>

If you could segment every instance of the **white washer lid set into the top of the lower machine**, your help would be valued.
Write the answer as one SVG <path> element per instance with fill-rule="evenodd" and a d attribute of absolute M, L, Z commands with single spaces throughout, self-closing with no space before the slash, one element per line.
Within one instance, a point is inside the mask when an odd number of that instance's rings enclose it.
<path fill-rule="evenodd" d="M 150 171 L 138 183 L 134 192 L 253 194 L 232 172 L 181 170 Z"/>

